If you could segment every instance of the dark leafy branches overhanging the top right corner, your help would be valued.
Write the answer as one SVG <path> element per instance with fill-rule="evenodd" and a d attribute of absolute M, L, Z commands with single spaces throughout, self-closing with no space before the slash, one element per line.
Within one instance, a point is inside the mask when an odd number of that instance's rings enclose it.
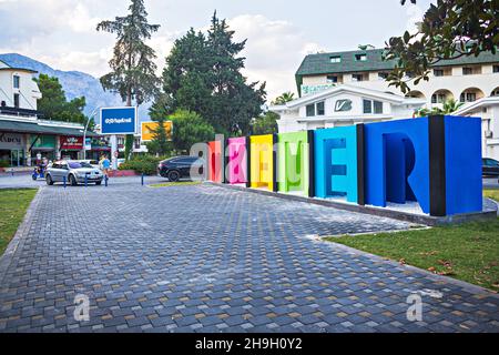
<path fill-rule="evenodd" d="M 403 92 L 410 90 L 413 81 L 415 85 L 428 81 L 430 68 L 442 60 L 487 51 L 495 54 L 499 45 L 499 1 L 437 0 L 418 27 L 417 32 L 406 31 L 386 43 L 385 59 L 396 61 L 388 81 Z"/>

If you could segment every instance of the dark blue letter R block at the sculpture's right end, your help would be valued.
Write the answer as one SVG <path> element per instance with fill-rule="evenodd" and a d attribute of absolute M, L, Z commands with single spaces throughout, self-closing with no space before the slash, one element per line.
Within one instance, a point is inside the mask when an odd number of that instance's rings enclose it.
<path fill-rule="evenodd" d="M 481 211 L 480 120 L 365 124 L 366 204 L 417 201 L 435 216 Z"/>

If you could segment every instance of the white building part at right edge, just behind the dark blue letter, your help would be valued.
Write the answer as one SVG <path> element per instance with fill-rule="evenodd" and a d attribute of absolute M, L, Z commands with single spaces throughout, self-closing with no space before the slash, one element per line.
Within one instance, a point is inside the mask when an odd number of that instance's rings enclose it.
<path fill-rule="evenodd" d="M 499 95 L 465 104 L 452 114 L 481 118 L 481 154 L 499 161 Z"/>

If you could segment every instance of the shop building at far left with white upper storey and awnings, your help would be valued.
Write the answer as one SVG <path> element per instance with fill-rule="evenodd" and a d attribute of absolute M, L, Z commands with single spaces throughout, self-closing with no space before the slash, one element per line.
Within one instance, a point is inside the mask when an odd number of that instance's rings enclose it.
<path fill-rule="evenodd" d="M 82 159 L 83 136 L 96 138 L 81 124 L 41 120 L 33 74 L 0 61 L 0 168 L 31 166 L 43 158 Z"/>

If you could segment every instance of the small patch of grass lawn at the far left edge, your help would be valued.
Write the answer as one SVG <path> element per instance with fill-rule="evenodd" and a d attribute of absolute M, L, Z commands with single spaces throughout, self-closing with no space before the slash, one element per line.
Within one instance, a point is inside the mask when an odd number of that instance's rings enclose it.
<path fill-rule="evenodd" d="M 0 255 L 14 236 L 35 194 L 35 189 L 0 190 Z"/>

